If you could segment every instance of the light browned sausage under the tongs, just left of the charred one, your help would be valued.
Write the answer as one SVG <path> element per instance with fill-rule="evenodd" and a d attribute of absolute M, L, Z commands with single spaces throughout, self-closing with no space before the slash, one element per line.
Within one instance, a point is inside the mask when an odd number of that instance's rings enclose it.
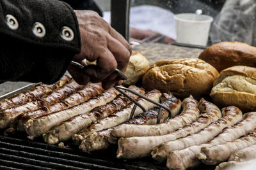
<path fill-rule="evenodd" d="M 159 92 L 159 90 L 152 90 L 150 92 L 147 92 L 147 94 L 145 94 L 145 96 L 156 101 L 156 102 L 159 102 L 159 97 L 161 96 L 161 92 Z M 155 104 L 150 103 L 142 98 L 138 98 L 137 102 L 140 103 L 141 106 L 143 106 L 145 108 L 145 110 L 148 110 L 155 106 Z M 120 111 L 117 111 L 113 115 L 110 115 L 109 117 L 102 118 L 101 120 L 94 122 L 88 128 L 84 129 L 83 131 L 79 132 L 78 134 L 74 134 L 72 136 L 72 139 L 76 143 L 81 143 L 81 141 L 83 141 L 86 138 L 86 136 L 88 134 L 90 134 L 91 132 L 100 131 L 102 129 L 106 129 L 109 127 L 115 127 L 116 125 L 129 120 L 133 106 L 134 106 L 134 103 L 130 103 L 127 105 L 127 107 L 125 107 L 124 109 L 122 109 Z M 141 108 L 137 107 L 134 112 L 134 117 L 139 115 L 141 112 L 143 112 L 141 110 Z"/>

